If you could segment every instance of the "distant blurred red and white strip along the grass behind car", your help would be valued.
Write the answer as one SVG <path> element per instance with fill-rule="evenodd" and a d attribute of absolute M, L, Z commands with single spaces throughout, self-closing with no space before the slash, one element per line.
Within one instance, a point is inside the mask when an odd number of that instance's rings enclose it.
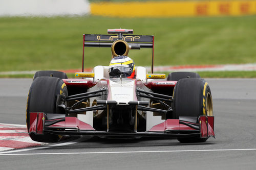
<path fill-rule="evenodd" d="M 151 70 L 151 66 L 145 66 L 147 71 Z M 85 72 L 91 72 L 93 68 L 84 69 Z M 59 70 L 66 73 L 81 72 L 81 69 Z M 174 71 L 256 71 L 256 63 L 249 64 L 222 64 L 222 65 L 178 65 L 178 66 L 154 66 L 154 72 L 174 72 Z M 0 75 L 20 75 L 35 74 L 33 71 L 4 71 Z"/>

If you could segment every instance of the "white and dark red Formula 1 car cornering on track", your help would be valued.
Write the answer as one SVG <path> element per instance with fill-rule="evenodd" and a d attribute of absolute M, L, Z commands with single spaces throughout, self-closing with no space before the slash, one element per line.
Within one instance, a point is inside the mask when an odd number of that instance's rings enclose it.
<path fill-rule="evenodd" d="M 31 139 L 57 142 L 63 135 L 105 138 L 170 137 L 205 142 L 215 137 L 210 87 L 195 72 L 154 74 L 154 36 L 83 35 L 82 71 L 37 71 L 27 100 Z M 114 35 L 113 35 L 114 34 Z M 125 34 L 125 35 L 123 35 Z M 84 47 L 111 47 L 109 66 L 84 72 Z M 151 74 L 135 67 L 129 49 L 152 48 Z M 110 55 L 111 56 L 111 55 Z"/>

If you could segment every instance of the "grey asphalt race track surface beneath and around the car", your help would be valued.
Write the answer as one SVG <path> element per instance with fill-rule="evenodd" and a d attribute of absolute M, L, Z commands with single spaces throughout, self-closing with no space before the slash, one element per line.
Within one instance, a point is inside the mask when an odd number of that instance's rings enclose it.
<path fill-rule="evenodd" d="M 216 139 L 81 137 L 0 153 L 0 169 L 255 169 L 256 79 L 206 79 Z M 0 123 L 25 124 L 31 79 L 0 79 Z"/>

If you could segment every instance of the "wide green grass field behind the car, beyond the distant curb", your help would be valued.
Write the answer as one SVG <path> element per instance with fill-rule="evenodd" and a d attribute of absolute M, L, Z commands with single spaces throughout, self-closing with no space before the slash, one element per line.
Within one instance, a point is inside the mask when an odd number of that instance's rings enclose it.
<path fill-rule="evenodd" d="M 0 17 L 0 72 L 81 68 L 82 34 L 106 34 L 114 28 L 155 35 L 155 65 L 255 63 L 255 20 L 256 16 Z M 151 52 L 131 50 L 129 56 L 136 66 L 151 65 Z M 111 58 L 110 48 L 90 47 L 85 54 L 86 67 L 108 65 Z"/>

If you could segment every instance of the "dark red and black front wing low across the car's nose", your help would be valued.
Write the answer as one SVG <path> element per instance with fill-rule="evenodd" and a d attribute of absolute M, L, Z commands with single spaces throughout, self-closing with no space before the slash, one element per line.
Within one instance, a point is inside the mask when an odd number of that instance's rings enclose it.
<path fill-rule="evenodd" d="M 97 131 L 91 125 L 80 121 L 76 117 L 66 117 L 65 114 L 46 114 L 43 112 L 30 112 L 29 134 L 36 135 L 93 135 L 111 137 L 215 137 L 214 116 L 200 116 L 198 123 L 187 121 L 196 117 L 180 117 L 167 119 L 165 122 L 153 126 L 146 132 L 108 132 Z M 46 120 L 46 116 L 52 116 Z"/>

